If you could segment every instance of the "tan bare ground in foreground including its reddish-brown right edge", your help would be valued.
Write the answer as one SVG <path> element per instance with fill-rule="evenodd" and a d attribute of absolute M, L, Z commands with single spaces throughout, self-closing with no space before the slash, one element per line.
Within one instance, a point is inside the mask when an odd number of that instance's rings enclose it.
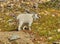
<path fill-rule="evenodd" d="M 9 40 L 12 35 L 19 36 L 19 39 Z M 0 44 L 47 44 L 43 39 L 31 31 L 0 32 Z"/>

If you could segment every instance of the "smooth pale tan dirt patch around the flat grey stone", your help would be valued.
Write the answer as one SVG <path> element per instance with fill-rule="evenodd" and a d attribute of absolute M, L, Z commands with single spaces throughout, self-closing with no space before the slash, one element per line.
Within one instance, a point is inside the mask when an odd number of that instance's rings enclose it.
<path fill-rule="evenodd" d="M 14 34 L 20 36 L 20 39 L 10 41 L 8 38 Z M 0 32 L 0 41 L 1 44 L 34 44 L 29 33 L 23 31 Z"/>

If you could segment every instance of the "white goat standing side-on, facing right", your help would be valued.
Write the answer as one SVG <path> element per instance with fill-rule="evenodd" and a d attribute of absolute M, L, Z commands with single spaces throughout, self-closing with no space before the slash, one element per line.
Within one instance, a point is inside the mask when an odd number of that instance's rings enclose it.
<path fill-rule="evenodd" d="M 21 26 L 24 24 L 24 23 L 28 23 L 28 26 L 29 26 L 29 30 L 31 30 L 31 25 L 33 23 L 33 19 L 36 20 L 38 19 L 39 17 L 37 16 L 37 14 L 19 14 L 17 16 L 17 20 L 19 21 L 19 26 L 18 26 L 18 30 L 21 30 Z"/>

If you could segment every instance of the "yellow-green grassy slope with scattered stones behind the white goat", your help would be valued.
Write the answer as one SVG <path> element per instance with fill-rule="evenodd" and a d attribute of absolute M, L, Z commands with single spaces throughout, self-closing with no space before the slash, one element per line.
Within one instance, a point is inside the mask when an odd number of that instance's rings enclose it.
<path fill-rule="evenodd" d="M 41 16 L 39 20 L 32 24 L 32 31 L 38 33 L 39 36 L 43 36 L 46 41 L 52 43 L 53 41 L 60 40 L 60 1 L 47 2 L 39 4 L 39 8 L 35 9 L 31 7 L 31 3 L 28 2 L 20 6 L 20 2 L 0 2 L 0 31 L 12 31 L 17 29 L 16 16 L 20 13 L 24 13 L 25 8 L 28 7 L 30 11 L 36 12 Z M 13 4 L 10 5 L 10 4 Z M 33 3 L 32 3 L 33 4 Z"/>

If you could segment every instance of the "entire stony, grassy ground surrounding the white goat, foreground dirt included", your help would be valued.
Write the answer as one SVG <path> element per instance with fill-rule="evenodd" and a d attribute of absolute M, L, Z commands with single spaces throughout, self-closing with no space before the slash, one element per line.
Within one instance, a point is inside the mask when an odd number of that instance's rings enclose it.
<path fill-rule="evenodd" d="M 31 31 L 17 30 L 16 17 L 29 11 L 40 19 Z M 17 34 L 21 39 L 10 41 Z M 0 44 L 60 44 L 60 0 L 0 0 Z M 56 42 L 56 43 L 55 43 Z"/>

